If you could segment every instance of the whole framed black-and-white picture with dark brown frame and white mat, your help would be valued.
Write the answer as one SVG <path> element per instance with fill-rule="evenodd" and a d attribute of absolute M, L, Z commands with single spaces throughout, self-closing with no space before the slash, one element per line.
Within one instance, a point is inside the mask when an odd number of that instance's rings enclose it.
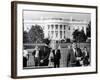
<path fill-rule="evenodd" d="M 97 7 L 12 3 L 12 76 L 97 73 Z"/>

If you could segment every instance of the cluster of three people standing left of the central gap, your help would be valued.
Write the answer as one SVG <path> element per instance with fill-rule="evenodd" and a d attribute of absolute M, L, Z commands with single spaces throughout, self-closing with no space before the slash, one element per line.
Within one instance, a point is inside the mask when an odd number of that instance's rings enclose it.
<path fill-rule="evenodd" d="M 54 68 L 60 65 L 61 52 L 58 47 L 53 50 L 48 45 L 42 46 L 41 49 L 36 46 L 32 55 L 34 56 L 35 66 L 50 67 L 50 61 L 54 63 Z"/>

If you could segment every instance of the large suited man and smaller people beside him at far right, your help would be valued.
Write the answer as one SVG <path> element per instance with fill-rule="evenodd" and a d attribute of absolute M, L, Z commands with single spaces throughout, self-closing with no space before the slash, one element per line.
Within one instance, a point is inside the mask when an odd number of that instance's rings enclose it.
<path fill-rule="evenodd" d="M 76 43 L 72 43 L 67 54 L 67 67 L 88 66 L 90 64 L 89 52 L 86 47 L 81 50 Z"/>

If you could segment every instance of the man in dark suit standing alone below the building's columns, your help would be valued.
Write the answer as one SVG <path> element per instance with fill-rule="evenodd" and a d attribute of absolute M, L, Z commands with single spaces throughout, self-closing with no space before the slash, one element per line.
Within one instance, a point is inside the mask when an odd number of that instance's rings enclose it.
<path fill-rule="evenodd" d="M 60 49 L 58 49 L 58 47 L 56 47 L 56 49 L 53 50 L 52 52 L 53 52 L 53 56 L 54 56 L 54 68 L 60 67 L 60 59 L 61 59 Z"/>

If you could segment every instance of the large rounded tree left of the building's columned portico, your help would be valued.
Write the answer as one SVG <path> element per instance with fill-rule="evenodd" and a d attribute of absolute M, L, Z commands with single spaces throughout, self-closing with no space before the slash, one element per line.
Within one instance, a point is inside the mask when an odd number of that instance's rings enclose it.
<path fill-rule="evenodd" d="M 31 43 L 43 42 L 44 33 L 43 33 L 43 29 L 41 28 L 41 26 L 39 25 L 32 26 L 28 34 L 31 39 Z"/>

